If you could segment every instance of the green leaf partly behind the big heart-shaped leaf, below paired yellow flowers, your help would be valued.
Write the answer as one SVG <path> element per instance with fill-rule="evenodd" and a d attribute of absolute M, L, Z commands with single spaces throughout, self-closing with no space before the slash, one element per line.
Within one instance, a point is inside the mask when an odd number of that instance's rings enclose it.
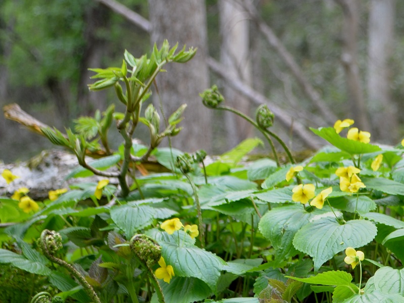
<path fill-rule="evenodd" d="M 314 212 L 308 213 L 300 205 L 292 204 L 274 208 L 262 217 L 258 228 L 271 241 L 275 260 L 283 261 L 297 254 L 292 244 L 293 237 L 314 216 Z"/>

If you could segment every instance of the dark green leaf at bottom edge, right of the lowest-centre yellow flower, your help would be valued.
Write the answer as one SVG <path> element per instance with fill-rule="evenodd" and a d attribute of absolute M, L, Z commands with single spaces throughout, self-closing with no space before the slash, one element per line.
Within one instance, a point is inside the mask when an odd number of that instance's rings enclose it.
<path fill-rule="evenodd" d="M 175 277 L 170 281 L 160 282 L 166 303 L 189 303 L 200 301 L 212 294 L 211 288 L 204 282 L 192 277 Z"/>

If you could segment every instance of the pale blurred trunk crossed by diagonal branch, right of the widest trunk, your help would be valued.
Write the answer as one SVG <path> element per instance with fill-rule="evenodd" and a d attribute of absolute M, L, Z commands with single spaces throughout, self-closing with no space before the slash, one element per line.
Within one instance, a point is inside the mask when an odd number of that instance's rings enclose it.
<path fill-rule="evenodd" d="M 222 37 L 221 63 L 227 73 L 251 84 L 249 62 L 249 21 L 243 7 L 234 0 L 220 0 L 220 33 Z M 246 115 L 251 115 L 247 98 L 227 86 L 223 90 L 226 103 Z M 251 125 L 232 113 L 225 113 L 227 143 L 237 145 L 251 135 Z"/>

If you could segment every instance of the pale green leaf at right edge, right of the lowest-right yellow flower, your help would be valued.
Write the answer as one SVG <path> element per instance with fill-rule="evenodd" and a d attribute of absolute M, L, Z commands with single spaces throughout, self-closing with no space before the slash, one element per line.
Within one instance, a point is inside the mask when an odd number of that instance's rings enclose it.
<path fill-rule="evenodd" d="M 375 272 L 373 283 L 377 291 L 404 296 L 404 269 L 389 266 L 379 268 Z"/>

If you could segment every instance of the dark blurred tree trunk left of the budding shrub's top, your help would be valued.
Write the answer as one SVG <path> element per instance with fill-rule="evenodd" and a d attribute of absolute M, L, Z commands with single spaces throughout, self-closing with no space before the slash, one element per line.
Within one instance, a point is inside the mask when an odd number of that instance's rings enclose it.
<path fill-rule="evenodd" d="M 107 92 L 105 90 L 89 92 L 87 84 L 94 82 L 90 79 L 94 72 L 88 68 L 102 68 L 102 58 L 105 54 L 107 41 L 97 35 L 97 30 L 108 27 L 110 10 L 103 5 L 90 6 L 84 15 L 86 28 L 84 38 L 86 45 L 80 63 L 80 79 L 77 92 L 77 109 L 75 115 L 92 115 L 96 109 L 107 108 Z"/>

